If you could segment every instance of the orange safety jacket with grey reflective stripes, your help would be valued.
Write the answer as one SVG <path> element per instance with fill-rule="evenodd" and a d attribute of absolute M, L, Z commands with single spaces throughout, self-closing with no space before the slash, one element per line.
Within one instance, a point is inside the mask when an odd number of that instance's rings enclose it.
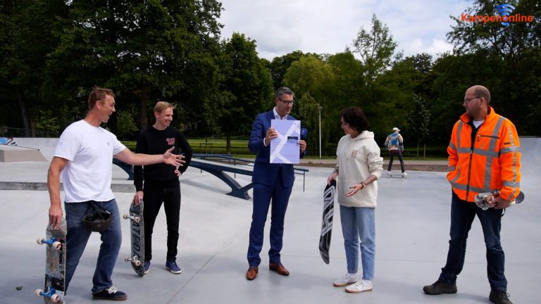
<path fill-rule="evenodd" d="M 513 201 L 521 182 L 521 145 L 513 122 L 489 106 L 472 144 L 471 119 L 464 114 L 454 124 L 447 147 L 447 180 L 463 201 L 473 202 L 476 194 L 496 190 L 503 199 Z"/>

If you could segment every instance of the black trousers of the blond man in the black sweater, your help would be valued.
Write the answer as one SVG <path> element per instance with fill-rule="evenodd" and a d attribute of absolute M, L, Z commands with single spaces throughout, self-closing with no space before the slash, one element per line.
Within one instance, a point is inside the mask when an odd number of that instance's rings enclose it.
<path fill-rule="evenodd" d="M 180 217 L 180 186 L 144 185 L 144 260 L 152 259 L 152 232 L 161 203 L 166 210 L 167 260 L 176 260 L 178 245 L 178 222 Z"/>

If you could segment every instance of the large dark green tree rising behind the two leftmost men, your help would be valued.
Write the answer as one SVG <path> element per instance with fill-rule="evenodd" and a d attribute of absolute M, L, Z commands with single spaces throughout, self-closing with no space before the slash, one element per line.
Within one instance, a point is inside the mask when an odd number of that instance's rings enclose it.
<path fill-rule="evenodd" d="M 111 87 L 124 101 L 119 106 L 139 105 L 141 129 L 158 99 L 178 99 L 188 120 L 204 115 L 201 104 L 216 97 L 218 1 L 75 0 L 69 8 L 49 60 L 61 100 L 85 96 L 95 84 Z"/>

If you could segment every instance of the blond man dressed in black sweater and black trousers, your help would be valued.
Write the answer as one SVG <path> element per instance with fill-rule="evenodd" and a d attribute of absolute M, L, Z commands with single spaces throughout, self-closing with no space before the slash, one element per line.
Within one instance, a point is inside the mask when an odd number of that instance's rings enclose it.
<path fill-rule="evenodd" d="M 170 127 L 175 106 L 158 101 L 154 106 L 156 123 L 145 129 L 137 139 L 136 153 L 163 154 L 175 147 L 174 153 L 184 153 L 185 165 L 174 170 L 169 165 L 156 164 L 134 167 L 135 203 L 144 198 L 144 273 L 149 272 L 152 259 L 152 230 L 163 203 L 167 219 L 166 269 L 173 274 L 182 270 L 176 263 L 178 244 L 178 222 L 180 216 L 180 182 L 178 177 L 185 172 L 192 160 L 192 147 L 178 129 Z M 143 184 L 144 182 L 144 184 Z"/>

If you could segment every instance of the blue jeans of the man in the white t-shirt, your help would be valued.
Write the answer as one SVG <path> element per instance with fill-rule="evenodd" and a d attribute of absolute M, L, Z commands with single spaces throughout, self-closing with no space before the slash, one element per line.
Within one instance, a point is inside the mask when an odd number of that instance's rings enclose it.
<path fill-rule="evenodd" d="M 98 262 L 92 279 L 92 293 L 97 293 L 113 286 L 111 274 L 115 267 L 122 233 L 120 232 L 120 215 L 115 199 L 106 202 L 94 202 L 96 205 L 108 210 L 113 215 L 111 226 L 101 234 L 101 246 L 99 248 Z M 70 284 L 75 269 L 79 265 L 82 253 L 85 251 L 88 239 L 92 232 L 82 225 L 82 217 L 87 213 L 94 212 L 88 202 L 64 203 L 66 208 L 66 224 L 68 235 L 66 236 L 66 290 Z"/>

